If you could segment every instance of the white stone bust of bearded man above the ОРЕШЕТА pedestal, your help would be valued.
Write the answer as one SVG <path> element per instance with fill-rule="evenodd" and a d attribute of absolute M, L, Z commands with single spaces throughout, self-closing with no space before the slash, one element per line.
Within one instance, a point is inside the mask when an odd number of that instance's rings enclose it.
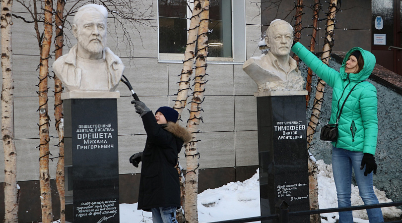
<path fill-rule="evenodd" d="M 75 14 L 72 33 L 77 44 L 53 63 L 67 92 L 109 92 L 117 88 L 124 64 L 106 47 L 107 17 L 107 9 L 98 4 L 86 4 Z"/>

